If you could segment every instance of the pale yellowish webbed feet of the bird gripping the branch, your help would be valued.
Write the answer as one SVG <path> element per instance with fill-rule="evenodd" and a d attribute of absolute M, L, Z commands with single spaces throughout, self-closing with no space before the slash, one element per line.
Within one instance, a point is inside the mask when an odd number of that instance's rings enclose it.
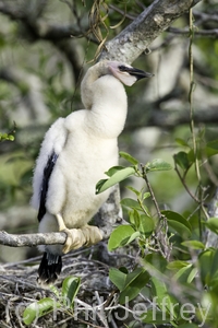
<path fill-rule="evenodd" d="M 90 246 L 102 239 L 102 233 L 97 226 L 85 225 L 82 229 L 64 229 L 66 241 L 62 248 L 62 253 L 66 254 L 72 249 L 82 246 Z"/>

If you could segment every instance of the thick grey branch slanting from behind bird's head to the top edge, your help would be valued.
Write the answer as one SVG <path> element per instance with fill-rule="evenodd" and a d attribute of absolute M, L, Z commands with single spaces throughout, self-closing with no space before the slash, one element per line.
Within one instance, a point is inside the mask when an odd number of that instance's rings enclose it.
<path fill-rule="evenodd" d="M 100 59 L 133 62 L 152 42 L 201 0 L 155 0 L 118 36 L 107 43 Z"/>

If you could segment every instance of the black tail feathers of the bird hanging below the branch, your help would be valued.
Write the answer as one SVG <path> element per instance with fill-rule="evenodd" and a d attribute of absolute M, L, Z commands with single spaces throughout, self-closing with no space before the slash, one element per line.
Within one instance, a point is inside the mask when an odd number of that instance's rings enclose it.
<path fill-rule="evenodd" d="M 44 253 L 40 266 L 38 268 L 38 283 L 53 283 L 62 269 L 62 260 L 60 255 Z"/>

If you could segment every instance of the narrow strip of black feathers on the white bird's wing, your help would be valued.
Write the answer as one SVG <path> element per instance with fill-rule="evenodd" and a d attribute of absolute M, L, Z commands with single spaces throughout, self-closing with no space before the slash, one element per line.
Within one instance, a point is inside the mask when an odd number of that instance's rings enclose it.
<path fill-rule="evenodd" d="M 43 177 L 40 195 L 39 195 L 40 202 L 39 202 L 38 216 L 37 216 L 39 222 L 46 214 L 46 199 L 47 199 L 48 184 L 49 184 L 50 175 L 56 165 L 57 159 L 58 155 L 55 152 L 52 152 L 52 154 L 48 159 L 46 167 L 44 168 L 44 177 Z"/>

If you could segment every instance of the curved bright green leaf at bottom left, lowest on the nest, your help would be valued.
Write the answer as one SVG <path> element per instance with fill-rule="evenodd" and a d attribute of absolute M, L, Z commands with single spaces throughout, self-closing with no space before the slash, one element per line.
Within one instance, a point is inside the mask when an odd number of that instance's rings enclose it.
<path fill-rule="evenodd" d="M 53 311 L 53 308 L 58 307 L 60 307 L 60 304 L 51 297 L 45 297 L 38 302 L 34 302 L 25 308 L 23 313 L 23 321 L 25 325 L 31 325 L 35 319 L 43 317 Z"/>

